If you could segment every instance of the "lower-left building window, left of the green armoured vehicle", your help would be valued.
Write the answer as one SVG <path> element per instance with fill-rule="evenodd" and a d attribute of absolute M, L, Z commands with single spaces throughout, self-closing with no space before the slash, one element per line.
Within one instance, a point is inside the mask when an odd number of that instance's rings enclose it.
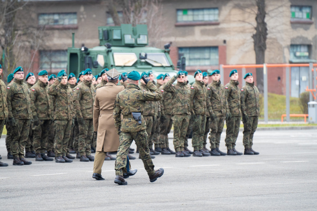
<path fill-rule="evenodd" d="M 40 69 L 66 69 L 67 50 L 42 50 L 40 51 Z"/>

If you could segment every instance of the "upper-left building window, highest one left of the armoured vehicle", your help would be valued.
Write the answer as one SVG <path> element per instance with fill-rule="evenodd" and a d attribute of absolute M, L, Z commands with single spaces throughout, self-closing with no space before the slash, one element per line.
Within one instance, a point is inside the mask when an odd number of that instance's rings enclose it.
<path fill-rule="evenodd" d="M 42 13 L 39 14 L 39 25 L 73 25 L 77 24 L 77 14 L 73 13 Z"/>

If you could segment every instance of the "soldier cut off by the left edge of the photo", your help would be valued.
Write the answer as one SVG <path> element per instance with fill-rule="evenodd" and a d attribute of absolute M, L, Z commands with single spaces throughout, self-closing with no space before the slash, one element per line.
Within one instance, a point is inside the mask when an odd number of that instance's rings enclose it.
<path fill-rule="evenodd" d="M 8 106 L 6 103 L 6 85 L 2 81 L 2 66 L 0 65 L 0 138 L 2 135 L 3 127 L 8 121 Z M 1 159 L 1 156 L 0 156 Z M 0 167 L 7 167 L 8 164 L 0 161 Z"/>

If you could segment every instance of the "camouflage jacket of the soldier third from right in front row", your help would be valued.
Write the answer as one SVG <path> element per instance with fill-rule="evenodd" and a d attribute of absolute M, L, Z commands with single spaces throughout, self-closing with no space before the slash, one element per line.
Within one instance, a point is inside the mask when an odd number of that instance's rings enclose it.
<path fill-rule="evenodd" d="M 220 81 L 212 81 L 211 84 L 208 84 L 207 90 L 211 102 L 209 113 L 216 117 L 225 116 L 226 112 L 229 112 L 229 107 L 224 86 Z"/>

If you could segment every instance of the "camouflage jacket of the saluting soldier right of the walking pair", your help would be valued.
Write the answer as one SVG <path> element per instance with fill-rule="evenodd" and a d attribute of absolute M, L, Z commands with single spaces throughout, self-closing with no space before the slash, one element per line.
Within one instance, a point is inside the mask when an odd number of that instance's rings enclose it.
<path fill-rule="evenodd" d="M 170 92 L 172 94 L 171 99 L 171 115 L 176 114 L 188 114 L 191 111 L 191 93 L 190 88 L 186 83 L 178 83 L 174 85 L 176 81 L 176 76 L 173 76 L 166 84 L 164 84 L 164 91 Z M 165 105 L 165 104 L 164 104 Z M 164 111 L 166 111 L 164 106 Z M 165 112 L 166 114 L 166 112 Z"/>

